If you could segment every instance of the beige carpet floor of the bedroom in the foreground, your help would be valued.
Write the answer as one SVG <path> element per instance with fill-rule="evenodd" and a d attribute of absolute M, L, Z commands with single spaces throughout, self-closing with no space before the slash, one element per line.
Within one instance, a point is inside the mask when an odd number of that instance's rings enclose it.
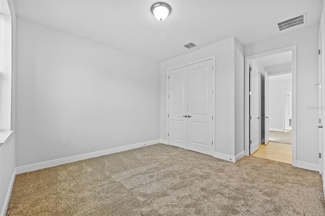
<path fill-rule="evenodd" d="M 7 215 L 325 215 L 318 172 L 157 144 L 16 176 Z"/>

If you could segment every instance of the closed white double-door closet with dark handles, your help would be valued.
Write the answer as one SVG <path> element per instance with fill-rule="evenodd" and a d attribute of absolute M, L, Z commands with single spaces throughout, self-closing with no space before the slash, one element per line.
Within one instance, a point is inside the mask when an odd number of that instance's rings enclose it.
<path fill-rule="evenodd" d="M 169 70 L 169 145 L 213 155 L 213 71 L 213 59 Z"/>

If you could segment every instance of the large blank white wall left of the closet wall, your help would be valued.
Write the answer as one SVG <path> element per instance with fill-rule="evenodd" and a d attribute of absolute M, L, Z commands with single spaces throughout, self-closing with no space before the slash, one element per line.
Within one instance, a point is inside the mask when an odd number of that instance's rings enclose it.
<path fill-rule="evenodd" d="M 16 83 L 17 166 L 159 139 L 158 62 L 18 18 Z"/>

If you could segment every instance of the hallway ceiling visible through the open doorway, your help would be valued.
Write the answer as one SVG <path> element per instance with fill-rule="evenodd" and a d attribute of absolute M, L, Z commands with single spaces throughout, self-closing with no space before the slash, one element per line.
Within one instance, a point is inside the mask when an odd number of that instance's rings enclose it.
<path fill-rule="evenodd" d="M 293 58 L 292 58 L 291 51 L 287 51 L 287 52 L 282 52 L 282 53 L 277 53 L 277 54 L 257 58 L 256 60 L 258 60 L 259 63 L 263 64 L 264 67 L 271 67 L 280 64 L 291 63 L 292 59 Z"/>

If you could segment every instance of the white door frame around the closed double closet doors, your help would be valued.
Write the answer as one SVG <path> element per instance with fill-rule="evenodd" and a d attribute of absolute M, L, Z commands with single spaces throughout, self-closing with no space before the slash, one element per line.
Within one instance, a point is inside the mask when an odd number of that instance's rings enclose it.
<path fill-rule="evenodd" d="M 215 117 L 215 56 L 211 56 L 211 57 L 207 57 L 207 58 L 203 58 L 203 59 L 199 59 L 199 60 L 195 60 L 195 61 L 191 61 L 189 63 L 185 63 L 185 64 L 181 64 L 180 66 L 177 67 L 173 67 L 167 70 L 167 132 L 166 132 L 166 136 L 167 136 L 167 144 L 169 144 L 169 73 L 171 70 L 177 69 L 177 68 L 181 68 L 181 67 L 186 67 L 188 65 L 191 64 L 196 64 L 196 63 L 200 63 L 202 61 L 207 61 L 212 59 L 213 61 L 213 69 L 212 69 L 212 73 L 213 73 L 213 108 L 212 108 L 212 115 Z M 214 153 L 215 153 L 215 118 L 213 118 L 212 120 L 212 139 L 213 139 L 213 153 L 212 156 L 214 157 Z"/>

